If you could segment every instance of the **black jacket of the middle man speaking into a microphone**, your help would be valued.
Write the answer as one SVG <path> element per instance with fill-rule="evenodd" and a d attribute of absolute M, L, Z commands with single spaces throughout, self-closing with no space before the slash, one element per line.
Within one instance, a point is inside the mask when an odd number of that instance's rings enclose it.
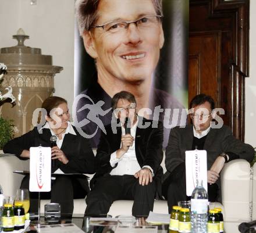
<path fill-rule="evenodd" d="M 145 165 L 150 166 L 154 171 L 154 179 L 157 182 L 157 185 L 160 187 L 163 174 L 162 167 L 160 166 L 163 159 L 163 125 L 161 121 L 159 121 L 158 127 L 152 128 L 152 122 L 152 120 L 138 117 L 138 126 L 136 129 L 135 138 L 135 151 L 140 167 Z M 150 127 L 139 127 L 140 125 L 145 126 L 145 124 L 150 124 Z M 114 169 L 114 167 L 111 166 L 109 160 L 111 158 L 111 154 L 120 149 L 121 145 L 122 128 L 120 126 L 116 128 L 116 134 L 113 133 L 111 124 L 106 126 L 105 130 L 106 134 L 101 132 L 101 138 L 98 144 L 97 155 L 95 157 L 96 174 L 91 181 L 92 184 L 95 178 L 109 174 L 112 169 Z M 116 164 L 116 166 L 118 166 L 118 164 Z M 159 188 L 158 193 L 161 193 L 161 189 Z"/>

